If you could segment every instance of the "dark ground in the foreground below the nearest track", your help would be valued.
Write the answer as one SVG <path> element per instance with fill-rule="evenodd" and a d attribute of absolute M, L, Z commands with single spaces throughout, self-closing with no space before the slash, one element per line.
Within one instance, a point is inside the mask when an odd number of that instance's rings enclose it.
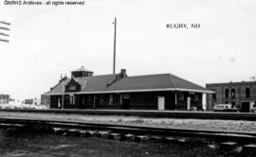
<path fill-rule="evenodd" d="M 197 142 L 197 139 L 194 139 Z M 0 129 L 2 157 L 238 157 L 241 153 L 221 151 L 193 143 L 160 143 L 107 140 Z M 215 146 L 216 143 L 207 141 Z"/>

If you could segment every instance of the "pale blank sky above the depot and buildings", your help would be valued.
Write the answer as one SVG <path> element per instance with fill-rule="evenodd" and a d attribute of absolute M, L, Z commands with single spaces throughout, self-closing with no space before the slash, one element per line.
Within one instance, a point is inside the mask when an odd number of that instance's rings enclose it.
<path fill-rule="evenodd" d="M 45 2 L 45 0 L 37 0 Z M 86 0 L 81 6 L 17 6 L 0 2 L 9 43 L 0 42 L 0 94 L 40 97 L 61 74 L 82 65 L 94 75 L 117 67 L 128 76 L 171 73 L 206 83 L 256 75 L 253 0 Z M 199 24 L 199 28 L 167 28 Z M 2 37 L 1 37 L 2 38 Z"/>

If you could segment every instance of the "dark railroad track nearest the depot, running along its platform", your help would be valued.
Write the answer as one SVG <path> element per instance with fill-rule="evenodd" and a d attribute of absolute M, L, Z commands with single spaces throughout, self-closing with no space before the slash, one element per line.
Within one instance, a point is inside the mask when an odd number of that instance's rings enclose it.
<path fill-rule="evenodd" d="M 165 118 L 196 118 L 196 119 L 223 119 L 256 121 L 256 113 L 212 113 L 212 112 L 186 112 L 186 111 L 138 111 L 138 110 L 31 110 L 31 109 L 2 109 L 0 112 L 12 113 L 76 113 L 98 115 L 127 115 L 143 117 Z"/>

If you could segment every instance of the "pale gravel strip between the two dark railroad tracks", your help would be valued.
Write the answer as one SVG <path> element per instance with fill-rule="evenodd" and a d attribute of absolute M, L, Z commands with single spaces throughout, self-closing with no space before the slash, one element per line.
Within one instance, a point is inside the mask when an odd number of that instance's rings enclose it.
<path fill-rule="evenodd" d="M 175 119 L 149 118 L 119 115 L 82 115 L 62 113 L 9 113 L 0 112 L 0 118 L 26 118 L 45 120 L 65 120 L 72 122 L 88 122 L 103 124 L 134 125 L 157 128 L 192 129 L 204 131 L 239 131 L 256 133 L 256 122 L 242 120 L 216 119 Z"/>

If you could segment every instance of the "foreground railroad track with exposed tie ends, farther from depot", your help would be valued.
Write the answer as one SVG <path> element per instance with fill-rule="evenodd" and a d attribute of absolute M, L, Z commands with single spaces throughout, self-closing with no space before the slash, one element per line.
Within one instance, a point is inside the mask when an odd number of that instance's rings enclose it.
<path fill-rule="evenodd" d="M 231 141 L 256 141 L 256 132 L 238 132 L 238 131 L 199 131 L 199 130 L 183 130 L 183 129 L 167 129 L 155 127 L 140 127 L 115 124 L 101 123 L 82 123 L 82 122 L 66 122 L 56 120 L 31 120 L 19 118 L 0 118 L 0 126 L 22 126 L 31 129 L 40 128 L 40 131 L 51 131 L 54 128 L 63 130 L 92 130 L 92 131 L 112 131 L 119 134 L 137 134 L 137 135 L 158 135 L 158 136 L 185 136 L 185 137 L 200 137 L 213 138 L 215 140 L 231 140 Z"/>

